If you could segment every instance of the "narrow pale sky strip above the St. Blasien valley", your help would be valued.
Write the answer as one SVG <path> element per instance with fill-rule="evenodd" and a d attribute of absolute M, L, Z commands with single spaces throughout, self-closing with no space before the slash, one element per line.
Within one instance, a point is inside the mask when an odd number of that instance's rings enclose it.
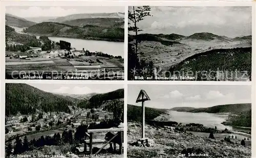
<path fill-rule="evenodd" d="M 42 91 L 63 94 L 107 93 L 124 88 L 123 84 L 29 84 Z"/>

